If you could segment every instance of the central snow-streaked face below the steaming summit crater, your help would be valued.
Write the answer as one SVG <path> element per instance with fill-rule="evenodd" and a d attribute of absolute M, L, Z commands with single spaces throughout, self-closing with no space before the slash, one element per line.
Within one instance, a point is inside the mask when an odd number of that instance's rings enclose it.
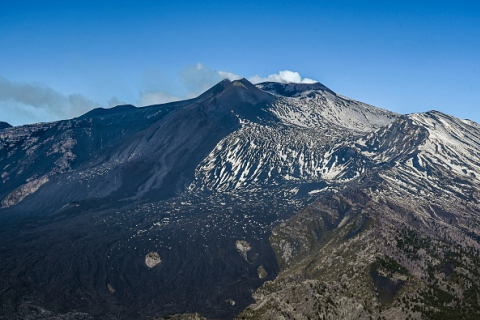
<path fill-rule="evenodd" d="M 191 190 L 229 191 L 286 181 L 351 180 L 363 172 L 351 169 L 358 168 L 357 162 L 362 159 L 354 157 L 351 150 L 332 155 L 332 146 L 373 132 L 397 117 L 341 98 L 318 83 L 300 87 L 265 83 L 258 87 L 278 97 L 268 111 L 279 121 L 254 123 L 239 116 L 241 129 L 222 139 L 197 167 Z M 290 94 L 281 96 L 273 88 L 283 88 L 281 93 Z"/>

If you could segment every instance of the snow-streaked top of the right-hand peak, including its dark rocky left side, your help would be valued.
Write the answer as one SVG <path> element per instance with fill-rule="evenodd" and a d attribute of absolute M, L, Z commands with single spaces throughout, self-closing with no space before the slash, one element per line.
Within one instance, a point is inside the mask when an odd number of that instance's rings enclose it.
<path fill-rule="evenodd" d="M 378 171 L 399 195 L 452 193 L 469 197 L 480 185 L 479 125 L 436 111 L 398 118 L 393 123 L 356 140 L 336 144 L 326 157 L 337 167 L 338 179 L 349 172 Z M 355 165 L 341 165 L 338 154 L 354 155 Z"/>

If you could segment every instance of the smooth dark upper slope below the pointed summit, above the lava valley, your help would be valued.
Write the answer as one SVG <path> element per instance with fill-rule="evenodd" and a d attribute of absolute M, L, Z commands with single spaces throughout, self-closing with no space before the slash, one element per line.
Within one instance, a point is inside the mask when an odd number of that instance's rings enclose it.
<path fill-rule="evenodd" d="M 246 80 L 223 81 L 187 105 L 95 109 L 78 119 L 25 127 L 7 137 L 14 144 L 0 153 L 0 164 L 26 167 L 8 176 L 3 206 L 19 203 L 16 210 L 26 213 L 41 204 L 51 212 L 92 198 L 173 197 L 193 181 L 215 145 L 239 128 L 239 117 L 265 119 L 271 101 Z M 41 180 L 26 183 L 32 176 Z"/>

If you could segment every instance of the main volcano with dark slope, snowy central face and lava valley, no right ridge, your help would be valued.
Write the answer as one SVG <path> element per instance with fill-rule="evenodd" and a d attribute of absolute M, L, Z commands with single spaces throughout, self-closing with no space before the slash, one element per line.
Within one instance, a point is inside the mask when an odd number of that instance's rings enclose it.
<path fill-rule="evenodd" d="M 328 188 L 324 154 L 397 117 L 321 85 L 265 86 L 0 131 L 7 318 L 231 318 L 252 303 L 278 272 L 272 227 Z"/>

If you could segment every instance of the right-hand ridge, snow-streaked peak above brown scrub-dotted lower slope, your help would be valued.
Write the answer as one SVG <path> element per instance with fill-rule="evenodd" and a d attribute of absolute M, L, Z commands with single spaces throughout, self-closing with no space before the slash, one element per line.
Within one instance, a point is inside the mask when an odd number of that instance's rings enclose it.
<path fill-rule="evenodd" d="M 280 274 L 241 317 L 478 318 L 479 129 L 431 111 L 334 147 L 359 178 L 274 229 Z"/>

